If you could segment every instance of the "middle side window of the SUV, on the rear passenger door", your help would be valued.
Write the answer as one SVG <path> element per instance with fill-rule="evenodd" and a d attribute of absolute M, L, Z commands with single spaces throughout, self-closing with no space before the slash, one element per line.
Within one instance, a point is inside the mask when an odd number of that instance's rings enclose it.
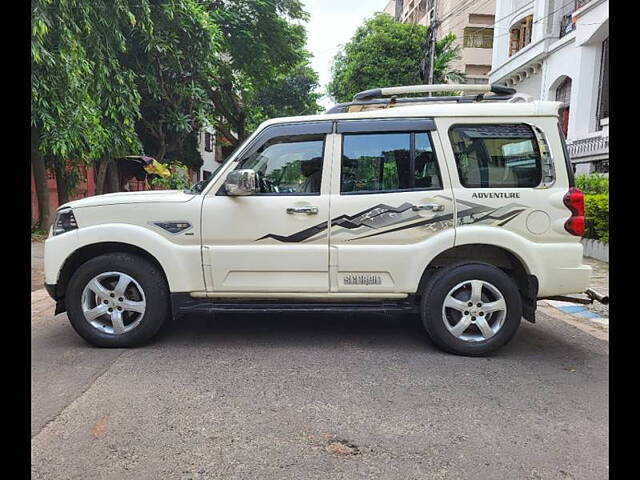
<path fill-rule="evenodd" d="M 340 191 L 440 188 L 427 133 L 344 134 Z"/>

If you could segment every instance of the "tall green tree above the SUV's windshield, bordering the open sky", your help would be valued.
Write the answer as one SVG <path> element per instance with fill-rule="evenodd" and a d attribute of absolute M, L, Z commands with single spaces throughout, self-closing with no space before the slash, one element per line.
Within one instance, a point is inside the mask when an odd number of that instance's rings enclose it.
<path fill-rule="evenodd" d="M 208 94 L 216 112 L 213 124 L 228 143 L 242 142 L 248 126 L 263 116 L 298 113 L 298 107 L 299 113 L 309 111 L 301 98 L 317 80 L 305 67 L 309 53 L 300 21 L 308 15 L 300 0 L 210 0 L 207 5 L 222 32 L 224 52 Z M 281 95 L 287 82 L 298 88 L 291 97 Z"/>

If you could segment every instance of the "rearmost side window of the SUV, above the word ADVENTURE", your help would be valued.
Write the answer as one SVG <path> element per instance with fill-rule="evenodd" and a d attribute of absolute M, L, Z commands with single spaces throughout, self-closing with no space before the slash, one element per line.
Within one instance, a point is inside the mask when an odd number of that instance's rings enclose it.
<path fill-rule="evenodd" d="M 464 187 L 536 187 L 542 181 L 540 149 L 528 125 L 458 125 L 449 136 Z"/>

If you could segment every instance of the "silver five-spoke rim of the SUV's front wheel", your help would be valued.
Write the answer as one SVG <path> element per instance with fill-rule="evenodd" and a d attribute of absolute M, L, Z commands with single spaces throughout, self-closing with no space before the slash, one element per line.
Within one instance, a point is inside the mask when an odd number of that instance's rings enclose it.
<path fill-rule="evenodd" d="M 85 320 L 101 332 L 122 335 L 136 328 L 144 316 L 144 291 L 133 277 L 104 272 L 93 277 L 82 291 Z"/>

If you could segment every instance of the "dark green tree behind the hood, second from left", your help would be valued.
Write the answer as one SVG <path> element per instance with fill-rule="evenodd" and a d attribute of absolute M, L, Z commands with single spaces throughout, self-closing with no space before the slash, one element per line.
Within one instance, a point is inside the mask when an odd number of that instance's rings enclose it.
<path fill-rule="evenodd" d="M 205 3 L 150 0 L 153 28 L 128 39 L 125 63 L 141 95 L 137 131 L 158 161 L 184 160 L 185 141 L 214 114 L 206 91 L 218 75 L 221 38 Z"/>

